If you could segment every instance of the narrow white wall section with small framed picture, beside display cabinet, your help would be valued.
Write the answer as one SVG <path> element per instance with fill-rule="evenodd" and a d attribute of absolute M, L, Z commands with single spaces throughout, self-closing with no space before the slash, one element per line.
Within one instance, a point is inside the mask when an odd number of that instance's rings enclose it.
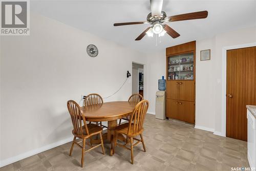
<path fill-rule="evenodd" d="M 210 60 L 200 61 L 200 51 L 210 49 Z M 196 127 L 214 131 L 215 37 L 196 41 Z"/>

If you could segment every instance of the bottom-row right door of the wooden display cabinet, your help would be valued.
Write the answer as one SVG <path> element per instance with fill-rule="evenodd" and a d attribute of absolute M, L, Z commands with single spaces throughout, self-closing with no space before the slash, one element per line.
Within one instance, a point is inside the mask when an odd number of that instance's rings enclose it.
<path fill-rule="evenodd" d="M 195 102 L 179 101 L 180 120 L 188 123 L 195 123 Z"/>

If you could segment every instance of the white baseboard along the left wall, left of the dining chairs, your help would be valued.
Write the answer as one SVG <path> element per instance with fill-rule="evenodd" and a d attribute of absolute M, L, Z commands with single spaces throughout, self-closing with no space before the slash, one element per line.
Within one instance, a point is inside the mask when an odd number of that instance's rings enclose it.
<path fill-rule="evenodd" d="M 2 160 L 2 161 L 0 161 L 0 167 L 6 166 L 8 164 L 14 163 L 16 161 L 19 161 L 19 160 L 22 160 L 22 159 L 25 159 L 25 158 L 28 158 L 28 157 L 36 155 L 38 153 L 45 152 L 48 149 L 57 147 L 59 145 L 66 144 L 66 143 L 68 143 L 70 141 L 73 141 L 73 138 L 74 137 L 72 136 L 72 137 L 69 137 L 69 138 L 66 138 L 66 139 L 54 142 L 52 144 L 49 144 L 49 145 L 46 145 L 46 146 L 42 146 L 40 148 L 33 149 L 33 150 L 29 151 L 29 152 L 26 152 L 26 153 L 23 153 L 23 154 L 19 154 L 17 156 L 10 157 L 8 159 Z"/>

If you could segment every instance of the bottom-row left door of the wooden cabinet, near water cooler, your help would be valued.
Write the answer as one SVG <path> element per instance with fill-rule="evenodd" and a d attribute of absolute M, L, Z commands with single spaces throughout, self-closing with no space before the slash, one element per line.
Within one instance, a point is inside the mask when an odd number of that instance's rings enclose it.
<path fill-rule="evenodd" d="M 166 117 L 172 119 L 180 119 L 177 102 L 177 100 L 166 99 Z"/>

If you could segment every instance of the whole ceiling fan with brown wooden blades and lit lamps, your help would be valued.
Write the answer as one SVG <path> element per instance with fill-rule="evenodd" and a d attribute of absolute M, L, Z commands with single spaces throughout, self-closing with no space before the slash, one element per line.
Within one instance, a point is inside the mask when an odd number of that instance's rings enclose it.
<path fill-rule="evenodd" d="M 115 23 L 114 26 L 125 26 L 125 25 L 138 25 L 138 24 L 151 24 L 144 30 L 135 40 L 141 40 L 146 34 L 153 37 L 154 33 L 158 34 L 159 37 L 164 36 L 165 33 L 169 34 L 173 38 L 180 36 L 174 29 L 170 28 L 168 25 L 163 24 L 164 22 L 177 22 L 181 20 L 189 19 L 200 19 L 206 18 L 208 11 L 192 12 L 174 16 L 167 16 L 164 11 L 162 11 L 163 0 L 150 0 L 151 13 L 147 15 L 146 22 L 129 22 L 129 23 Z"/>

